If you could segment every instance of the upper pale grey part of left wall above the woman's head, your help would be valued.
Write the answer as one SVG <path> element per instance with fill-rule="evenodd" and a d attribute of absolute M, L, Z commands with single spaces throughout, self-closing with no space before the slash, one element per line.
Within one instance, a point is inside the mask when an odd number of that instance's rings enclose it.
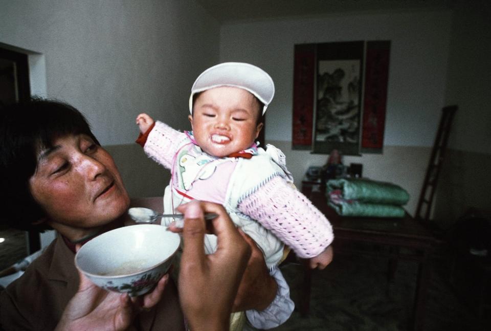
<path fill-rule="evenodd" d="M 47 95 L 79 108 L 103 145 L 135 140 L 145 111 L 187 128 L 218 23 L 194 1 L 0 0 L 0 42 L 41 53 Z"/>

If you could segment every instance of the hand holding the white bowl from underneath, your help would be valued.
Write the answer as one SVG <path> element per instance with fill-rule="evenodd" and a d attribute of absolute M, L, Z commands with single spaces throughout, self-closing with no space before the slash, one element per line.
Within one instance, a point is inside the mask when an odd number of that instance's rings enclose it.
<path fill-rule="evenodd" d="M 140 297 L 129 297 L 98 288 L 79 272 L 77 293 L 66 305 L 56 330 L 125 330 L 135 316 L 157 304 L 162 298 L 169 275 L 164 275 L 155 289 Z"/>

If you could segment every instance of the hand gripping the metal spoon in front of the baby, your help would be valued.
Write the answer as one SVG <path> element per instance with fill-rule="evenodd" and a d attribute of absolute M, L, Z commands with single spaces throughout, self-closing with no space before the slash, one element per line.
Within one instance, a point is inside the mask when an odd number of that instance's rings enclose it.
<path fill-rule="evenodd" d="M 178 209 L 185 215 L 178 281 L 184 315 L 193 331 L 228 330 L 232 304 L 251 249 L 222 206 L 192 201 Z M 209 255 L 204 249 L 204 212 L 218 214 L 208 224 L 218 237 L 216 252 Z"/>

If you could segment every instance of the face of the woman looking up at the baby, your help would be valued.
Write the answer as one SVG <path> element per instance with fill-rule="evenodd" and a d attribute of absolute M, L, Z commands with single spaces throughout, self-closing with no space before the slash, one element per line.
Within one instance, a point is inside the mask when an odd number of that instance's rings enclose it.
<path fill-rule="evenodd" d="M 86 135 L 65 136 L 38 152 L 29 180 L 49 225 L 71 240 L 122 215 L 129 197 L 113 158 Z"/>

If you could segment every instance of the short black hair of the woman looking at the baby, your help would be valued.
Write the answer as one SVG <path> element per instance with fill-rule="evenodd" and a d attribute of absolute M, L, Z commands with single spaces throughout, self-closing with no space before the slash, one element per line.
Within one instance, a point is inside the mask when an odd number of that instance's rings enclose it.
<path fill-rule="evenodd" d="M 85 134 L 99 144 L 85 117 L 73 106 L 33 98 L 0 108 L 0 223 L 21 230 L 43 231 L 33 222 L 46 217 L 34 201 L 29 179 L 37 167 L 40 148 L 56 139 Z"/>

